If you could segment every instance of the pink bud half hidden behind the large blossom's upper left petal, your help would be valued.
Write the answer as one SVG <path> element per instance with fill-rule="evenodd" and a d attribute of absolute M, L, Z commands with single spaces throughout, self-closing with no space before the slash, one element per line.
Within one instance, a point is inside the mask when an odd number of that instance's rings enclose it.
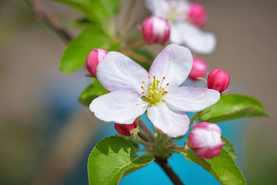
<path fill-rule="evenodd" d="M 98 66 L 99 62 L 105 58 L 107 55 L 107 51 L 105 49 L 93 49 L 91 53 L 87 56 L 86 67 L 87 71 L 91 73 L 92 76 L 96 78 L 96 67 Z"/>

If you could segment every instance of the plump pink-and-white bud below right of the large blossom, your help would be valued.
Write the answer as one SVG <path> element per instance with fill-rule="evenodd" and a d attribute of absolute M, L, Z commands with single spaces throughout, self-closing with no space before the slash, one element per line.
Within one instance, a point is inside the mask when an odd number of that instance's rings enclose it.
<path fill-rule="evenodd" d="M 188 146 L 201 158 L 217 157 L 224 144 L 221 141 L 220 127 L 214 123 L 198 123 L 188 135 Z"/>

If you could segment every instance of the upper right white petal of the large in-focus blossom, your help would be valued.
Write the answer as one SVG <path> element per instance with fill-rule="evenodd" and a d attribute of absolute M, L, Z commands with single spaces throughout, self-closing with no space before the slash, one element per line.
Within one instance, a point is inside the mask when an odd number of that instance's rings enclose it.
<path fill-rule="evenodd" d="M 150 67 L 149 75 L 156 76 L 158 80 L 165 76 L 165 84 L 179 86 L 186 80 L 192 67 L 193 55 L 190 51 L 184 46 L 170 44 L 155 58 Z"/>

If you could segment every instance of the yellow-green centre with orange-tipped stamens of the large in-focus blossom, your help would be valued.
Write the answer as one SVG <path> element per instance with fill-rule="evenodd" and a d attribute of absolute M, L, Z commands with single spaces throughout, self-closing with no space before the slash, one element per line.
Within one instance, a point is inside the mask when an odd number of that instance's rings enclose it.
<path fill-rule="evenodd" d="M 150 79 L 151 77 L 148 76 Z M 163 87 L 163 81 L 166 79 L 166 77 L 163 76 L 162 80 L 156 79 L 155 76 L 153 76 L 153 81 L 149 82 L 149 87 L 147 88 L 145 86 L 145 82 L 143 81 L 143 86 L 141 86 L 141 89 L 143 91 L 141 94 L 143 95 L 143 100 L 148 102 L 150 104 L 150 107 L 157 105 L 157 103 L 164 102 L 163 96 L 165 96 L 168 91 L 166 91 L 166 88 L 168 87 L 169 83 L 166 84 L 165 87 Z"/>

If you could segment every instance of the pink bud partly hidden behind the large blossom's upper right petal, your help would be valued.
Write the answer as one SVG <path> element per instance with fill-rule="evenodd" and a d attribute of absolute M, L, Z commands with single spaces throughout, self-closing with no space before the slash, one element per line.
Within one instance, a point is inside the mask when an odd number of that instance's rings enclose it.
<path fill-rule="evenodd" d="M 204 77 L 207 71 L 206 62 L 199 57 L 193 58 L 193 68 L 190 70 L 188 77 L 191 80 L 197 80 L 198 77 Z"/>

